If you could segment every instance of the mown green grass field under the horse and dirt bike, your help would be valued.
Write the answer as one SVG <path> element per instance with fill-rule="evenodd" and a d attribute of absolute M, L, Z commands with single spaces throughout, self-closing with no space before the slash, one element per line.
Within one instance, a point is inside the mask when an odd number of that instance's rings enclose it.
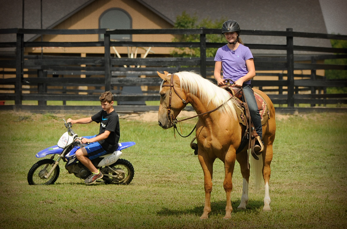
<path fill-rule="evenodd" d="M 35 154 L 55 145 L 65 132 L 61 114 L 1 111 L 0 228 L 347 228 L 347 114 L 278 116 L 271 164 L 271 212 L 263 212 L 263 186 L 250 179 L 247 210 L 239 165 L 231 194 L 234 211 L 225 215 L 223 163 L 214 163 L 212 212 L 204 207 L 203 173 L 189 148 L 191 138 L 174 138 L 156 121 L 120 120 L 120 141 L 134 141 L 122 158 L 135 176 L 130 185 L 96 184 L 68 174 L 60 164 L 54 185 L 29 186 Z M 74 116 L 76 118 L 76 116 Z M 189 133 L 193 121 L 183 123 Z M 76 125 L 79 136 L 97 133 L 98 124 Z"/>

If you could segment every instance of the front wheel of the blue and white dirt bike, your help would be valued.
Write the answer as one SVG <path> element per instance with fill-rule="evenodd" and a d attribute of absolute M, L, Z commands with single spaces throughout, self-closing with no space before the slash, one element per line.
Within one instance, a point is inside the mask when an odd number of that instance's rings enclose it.
<path fill-rule="evenodd" d="M 55 161 L 52 159 L 43 159 L 36 162 L 28 172 L 29 185 L 51 185 L 56 182 L 59 177 L 59 166 L 53 170 L 51 176 L 45 178 L 44 176 L 52 169 Z"/>

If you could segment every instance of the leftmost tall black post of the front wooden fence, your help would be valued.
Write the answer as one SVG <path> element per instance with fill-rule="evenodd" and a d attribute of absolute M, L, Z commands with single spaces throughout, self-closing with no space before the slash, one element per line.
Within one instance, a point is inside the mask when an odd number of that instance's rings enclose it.
<path fill-rule="evenodd" d="M 24 65 L 24 34 L 17 33 L 16 46 L 16 84 L 15 84 L 15 105 L 22 105 L 22 78 Z"/>

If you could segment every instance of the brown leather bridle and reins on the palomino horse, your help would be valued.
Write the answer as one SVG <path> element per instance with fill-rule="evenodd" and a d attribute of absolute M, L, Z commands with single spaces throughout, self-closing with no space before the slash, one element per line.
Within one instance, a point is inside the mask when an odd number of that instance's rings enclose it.
<path fill-rule="evenodd" d="M 166 84 L 166 85 L 162 85 L 162 87 L 170 87 L 170 91 L 169 91 L 169 107 L 167 109 L 167 116 L 171 118 L 171 121 L 174 122 L 174 135 L 176 138 L 176 134 L 175 134 L 175 129 L 177 130 L 177 126 L 176 123 L 181 123 L 182 121 L 186 121 L 188 119 L 192 119 L 192 118 L 196 118 L 198 116 L 202 116 L 204 114 L 208 114 L 208 113 L 212 113 L 213 111 L 218 110 L 219 108 L 221 108 L 223 105 L 225 105 L 227 102 L 229 102 L 236 94 L 238 94 L 240 91 L 242 91 L 242 87 L 240 88 L 240 90 L 238 90 L 234 95 L 232 95 L 227 101 L 223 102 L 222 104 L 220 104 L 218 107 L 214 108 L 213 110 L 210 111 L 206 111 L 204 113 L 201 114 L 197 114 L 193 117 L 189 117 L 189 118 L 185 118 L 185 119 L 181 119 L 181 120 L 177 120 L 176 117 L 171 113 L 171 98 L 172 98 L 172 88 L 174 88 L 174 92 L 176 93 L 176 95 L 182 100 L 183 103 L 187 103 L 186 100 L 182 99 L 182 97 L 177 93 L 175 86 L 174 86 L 174 75 L 175 74 L 171 74 L 171 79 L 170 79 L 170 84 Z M 191 131 L 191 133 L 189 133 L 187 136 L 183 136 L 179 133 L 179 131 L 177 130 L 177 133 L 181 136 L 181 137 L 189 137 L 193 131 L 195 130 L 196 125 L 194 126 L 193 130 Z"/>

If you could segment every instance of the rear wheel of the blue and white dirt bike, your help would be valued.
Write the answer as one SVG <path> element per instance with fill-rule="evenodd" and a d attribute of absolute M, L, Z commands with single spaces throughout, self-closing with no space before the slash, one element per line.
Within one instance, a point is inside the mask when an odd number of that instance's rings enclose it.
<path fill-rule="evenodd" d="M 118 159 L 116 163 L 106 166 L 101 170 L 105 184 L 128 185 L 134 178 L 133 165 L 125 160 Z"/>

